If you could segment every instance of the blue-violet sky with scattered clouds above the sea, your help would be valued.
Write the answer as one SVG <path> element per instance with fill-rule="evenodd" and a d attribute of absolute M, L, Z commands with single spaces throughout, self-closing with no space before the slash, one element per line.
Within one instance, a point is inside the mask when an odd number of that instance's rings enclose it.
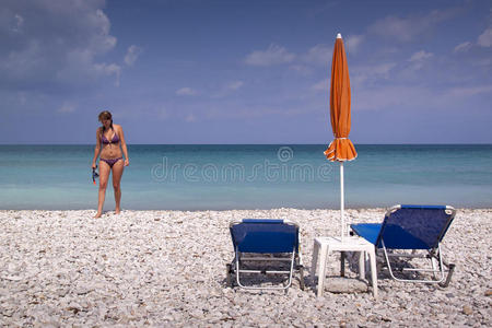
<path fill-rule="evenodd" d="M 1 0 L 0 143 L 492 143 L 492 2 Z"/>

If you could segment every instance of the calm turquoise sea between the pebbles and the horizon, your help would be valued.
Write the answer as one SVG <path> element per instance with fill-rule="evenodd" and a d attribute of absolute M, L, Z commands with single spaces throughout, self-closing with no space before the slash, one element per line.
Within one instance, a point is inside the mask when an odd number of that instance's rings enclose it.
<path fill-rule="evenodd" d="M 122 208 L 339 208 L 326 145 L 129 145 Z M 492 145 L 356 145 L 347 208 L 492 207 Z M 0 145 L 0 209 L 94 209 L 93 145 Z M 114 209 L 113 190 L 105 210 Z"/>

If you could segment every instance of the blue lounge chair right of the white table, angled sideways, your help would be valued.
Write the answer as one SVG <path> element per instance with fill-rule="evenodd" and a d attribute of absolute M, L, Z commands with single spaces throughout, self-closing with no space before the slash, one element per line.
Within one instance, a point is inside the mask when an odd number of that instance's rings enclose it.
<path fill-rule="evenodd" d="M 441 254 L 440 243 L 455 218 L 456 210 L 444 206 L 395 206 L 386 212 L 383 223 L 352 224 L 352 231 L 374 244 L 376 251 L 383 249 L 389 274 L 398 281 L 449 284 L 455 266 L 447 263 Z M 395 251 L 412 249 L 411 254 Z M 424 254 L 418 250 L 425 250 Z M 430 268 L 403 267 L 402 271 L 432 272 L 434 279 L 407 279 L 395 276 L 389 258 L 426 258 Z M 445 269 L 447 268 L 447 278 Z M 437 277 L 435 277 L 435 274 Z"/>

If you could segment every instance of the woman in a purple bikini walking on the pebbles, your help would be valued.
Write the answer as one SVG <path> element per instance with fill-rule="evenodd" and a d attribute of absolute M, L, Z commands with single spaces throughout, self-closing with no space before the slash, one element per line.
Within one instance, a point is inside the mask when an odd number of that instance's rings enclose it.
<path fill-rule="evenodd" d="M 94 159 L 92 160 L 92 168 L 97 167 L 96 160 L 99 157 L 99 197 L 97 203 L 97 214 L 94 218 L 101 218 L 103 214 L 104 198 L 106 196 L 107 180 L 109 173 L 113 171 L 113 188 L 115 189 L 116 208 L 115 213 L 121 211 L 121 175 L 124 166 L 130 164 L 128 160 L 127 143 L 121 126 L 113 124 L 113 116 L 109 112 L 104 110 L 99 114 L 99 121 L 103 124 L 96 132 L 96 147 L 94 150 Z M 101 145 L 103 145 L 101 148 Z M 125 161 L 121 156 L 121 150 L 125 154 Z"/>

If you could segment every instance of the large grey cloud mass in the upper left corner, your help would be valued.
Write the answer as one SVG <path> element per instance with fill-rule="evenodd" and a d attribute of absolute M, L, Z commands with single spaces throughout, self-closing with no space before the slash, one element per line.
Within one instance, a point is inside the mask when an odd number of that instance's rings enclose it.
<path fill-rule="evenodd" d="M 118 79 L 116 63 L 97 59 L 117 43 L 104 5 L 104 0 L 3 1 L 0 82 L 38 92 L 47 85 L 79 87 L 101 77 Z"/>

